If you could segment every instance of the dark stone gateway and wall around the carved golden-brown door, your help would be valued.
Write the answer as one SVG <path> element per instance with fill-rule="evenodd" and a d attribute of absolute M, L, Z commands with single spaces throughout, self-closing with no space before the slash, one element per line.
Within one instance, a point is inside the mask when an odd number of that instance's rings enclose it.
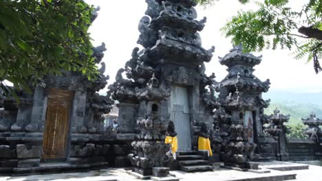
<path fill-rule="evenodd" d="M 97 64 L 105 50 L 104 43 L 93 48 Z M 19 104 L 12 97 L 3 98 L 0 172 L 24 173 L 50 162 L 83 165 L 85 169 L 107 165 L 112 138 L 105 134 L 102 115 L 114 102 L 97 93 L 109 79 L 104 75 L 105 63 L 100 64 L 94 82 L 81 73 L 64 72 L 62 76 L 46 76 L 45 86 L 32 88 L 33 95 L 17 91 Z"/>

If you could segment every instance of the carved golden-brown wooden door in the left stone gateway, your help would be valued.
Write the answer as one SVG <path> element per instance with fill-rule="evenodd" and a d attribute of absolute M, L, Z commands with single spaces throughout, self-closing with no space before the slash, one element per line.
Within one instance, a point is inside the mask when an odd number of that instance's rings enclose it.
<path fill-rule="evenodd" d="M 43 132 L 43 159 L 65 159 L 74 92 L 50 88 Z"/>

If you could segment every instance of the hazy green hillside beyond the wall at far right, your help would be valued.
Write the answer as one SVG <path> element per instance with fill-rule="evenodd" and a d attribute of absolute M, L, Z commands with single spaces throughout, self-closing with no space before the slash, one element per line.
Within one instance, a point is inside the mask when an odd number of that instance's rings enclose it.
<path fill-rule="evenodd" d="M 271 99 L 265 114 L 272 114 L 279 108 L 282 114 L 290 114 L 290 123 L 301 123 L 301 118 L 307 118 L 312 112 L 322 119 L 322 92 L 319 93 L 289 93 L 271 91 L 264 94 L 264 99 Z"/>

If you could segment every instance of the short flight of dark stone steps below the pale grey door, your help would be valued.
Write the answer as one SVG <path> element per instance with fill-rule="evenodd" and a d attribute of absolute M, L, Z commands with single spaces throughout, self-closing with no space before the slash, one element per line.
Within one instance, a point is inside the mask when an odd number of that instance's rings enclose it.
<path fill-rule="evenodd" d="M 213 166 L 208 162 L 202 152 L 180 151 L 177 152 L 180 170 L 185 172 L 212 171 Z"/>

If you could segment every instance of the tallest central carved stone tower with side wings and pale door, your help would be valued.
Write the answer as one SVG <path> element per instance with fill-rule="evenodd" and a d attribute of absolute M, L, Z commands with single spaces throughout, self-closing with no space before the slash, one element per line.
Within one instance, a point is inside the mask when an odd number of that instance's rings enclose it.
<path fill-rule="evenodd" d="M 198 34 L 206 18 L 195 20 L 193 0 L 147 0 L 147 3 L 146 16 L 138 25 L 141 33 L 138 43 L 144 49 L 133 49 L 131 60 L 118 71 L 116 82 L 109 87 L 113 99 L 120 102 L 118 137 L 123 135 L 130 140 L 136 135 L 133 139 L 139 142 L 132 145 L 136 151 L 142 150 L 139 147 L 144 144 L 138 143 L 162 141 L 165 125 L 173 121 L 178 132 L 178 150 L 197 150 L 196 133 L 202 123 L 213 129 L 213 108 L 218 106 L 213 94 L 215 75 L 207 77 L 204 73 L 204 62 L 211 60 L 215 47 L 202 48 Z M 152 150 L 153 146 L 145 145 Z M 140 158 L 131 155 L 131 160 L 147 162 L 148 158 L 153 162 L 149 155 L 160 155 L 161 151 L 137 152 Z M 159 161 L 154 163 L 149 167 L 160 166 Z"/>

